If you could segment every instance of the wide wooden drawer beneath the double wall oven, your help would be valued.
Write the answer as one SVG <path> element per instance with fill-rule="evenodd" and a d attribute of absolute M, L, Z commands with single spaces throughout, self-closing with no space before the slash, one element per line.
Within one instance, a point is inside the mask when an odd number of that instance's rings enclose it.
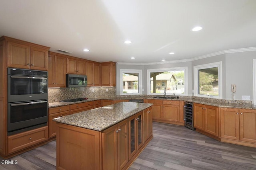
<path fill-rule="evenodd" d="M 48 127 L 8 136 L 8 154 L 48 140 Z"/>

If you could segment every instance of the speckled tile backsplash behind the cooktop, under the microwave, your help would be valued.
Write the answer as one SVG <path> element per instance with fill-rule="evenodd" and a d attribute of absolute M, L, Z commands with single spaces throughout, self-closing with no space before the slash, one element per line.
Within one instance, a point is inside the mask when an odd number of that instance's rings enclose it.
<path fill-rule="evenodd" d="M 93 92 L 94 91 L 94 92 Z M 76 98 L 112 98 L 116 97 L 115 87 L 76 87 L 76 88 L 49 88 L 48 102 Z"/>

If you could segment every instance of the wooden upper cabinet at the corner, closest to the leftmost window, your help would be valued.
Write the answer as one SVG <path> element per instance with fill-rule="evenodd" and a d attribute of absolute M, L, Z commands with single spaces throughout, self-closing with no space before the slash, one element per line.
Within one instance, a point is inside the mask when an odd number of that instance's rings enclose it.
<path fill-rule="evenodd" d="M 116 86 L 116 63 L 101 63 L 101 86 Z"/>

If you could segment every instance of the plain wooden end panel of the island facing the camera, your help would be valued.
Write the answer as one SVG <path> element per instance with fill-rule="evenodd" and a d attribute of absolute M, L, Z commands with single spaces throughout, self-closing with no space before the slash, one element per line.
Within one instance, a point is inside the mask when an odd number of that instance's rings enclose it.
<path fill-rule="evenodd" d="M 100 170 L 99 131 L 57 123 L 56 153 L 58 170 Z"/>

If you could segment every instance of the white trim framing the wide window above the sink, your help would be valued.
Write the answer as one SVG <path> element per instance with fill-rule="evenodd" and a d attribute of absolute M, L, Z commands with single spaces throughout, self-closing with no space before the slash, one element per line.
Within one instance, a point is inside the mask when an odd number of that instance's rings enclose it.
<path fill-rule="evenodd" d="M 150 72 L 159 72 L 159 71 L 180 71 L 184 70 L 184 94 L 177 94 L 178 96 L 187 96 L 188 95 L 188 67 L 175 67 L 175 68 L 158 68 L 158 69 L 148 69 L 147 70 L 147 85 L 148 90 L 147 93 L 149 95 L 160 95 L 160 93 L 150 93 Z"/>

